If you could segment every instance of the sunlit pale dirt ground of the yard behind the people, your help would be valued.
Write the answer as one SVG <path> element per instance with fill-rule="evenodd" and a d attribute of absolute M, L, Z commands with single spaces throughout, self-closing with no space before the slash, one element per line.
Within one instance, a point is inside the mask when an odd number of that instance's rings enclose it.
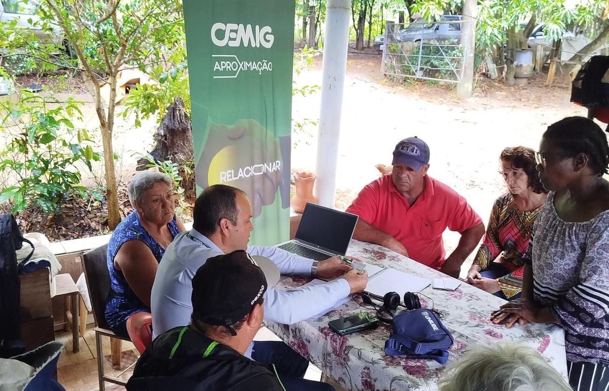
<path fill-rule="evenodd" d="M 537 149 L 547 125 L 565 116 L 585 114 L 569 102 L 566 83 L 544 86 L 545 74 L 529 85 L 512 88 L 478 80 L 474 96 L 462 101 L 451 86 L 388 80 L 380 65 L 378 54 L 348 55 L 336 172 L 338 208 L 346 208 L 364 185 L 378 177 L 376 164 L 391 163 L 398 141 L 418 136 L 431 149 L 429 175 L 465 196 L 486 222 L 493 200 L 504 192 L 498 174 L 501 150 L 518 145 Z M 321 85 L 322 56 L 295 81 L 297 85 Z M 80 94 L 79 99 L 82 97 L 86 95 Z M 320 98 L 320 91 L 294 96 L 292 118 L 317 121 Z M 83 113 L 82 125 L 94 129 L 97 119 L 90 96 Z M 150 150 L 155 128 L 155 119 L 143 121 L 139 128 L 133 127 L 133 118 L 117 120 L 114 152 L 121 156 L 117 170 L 123 181 L 128 182 L 135 172 L 133 155 Z M 315 171 L 317 126 L 306 125 L 293 132 L 292 138 L 292 171 Z M 93 175 L 83 172 L 85 185 L 100 178 L 101 167 Z M 447 249 L 454 248 L 458 239 L 458 234 L 446 233 Z"/>

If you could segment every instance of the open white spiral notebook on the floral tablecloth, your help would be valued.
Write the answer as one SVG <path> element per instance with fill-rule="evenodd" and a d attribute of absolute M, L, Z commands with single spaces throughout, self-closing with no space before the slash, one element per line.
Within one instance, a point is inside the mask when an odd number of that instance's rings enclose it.
<path fill-rule="evenodd" d="M 429 278 L 417 277 L 393 267 L 379 267 L 366 264 L 368 286 L 365 291 L 376 297 L 383 297 L 387 292 L 398 292 L 404 297 L 406 292 L 419 292 L 431 285 Z"/>

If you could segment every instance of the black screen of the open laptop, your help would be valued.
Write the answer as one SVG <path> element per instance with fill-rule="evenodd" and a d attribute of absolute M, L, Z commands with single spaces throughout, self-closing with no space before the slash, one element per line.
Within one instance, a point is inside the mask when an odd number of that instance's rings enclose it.
<path fill-rule="evenodd" d="M 308 202 L 294 239 L 327 252 L 345 255 L 357 215 Z"/>

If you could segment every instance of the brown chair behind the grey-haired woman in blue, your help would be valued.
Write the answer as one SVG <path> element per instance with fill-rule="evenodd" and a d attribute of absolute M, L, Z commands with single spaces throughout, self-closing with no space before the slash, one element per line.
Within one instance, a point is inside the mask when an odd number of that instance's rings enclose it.
<path fill-rule="evenodd" d="M 89 298 L 93 307 L 93 317 L 95 319 L 96 328 L 95 342 L 97 350 L 97 377 L 99 378 L 99 391 L 105 390 L 104 381 L 108 381 L 121 386 L 126 386 L 127 382 L 114 376 L 104 374 L 104 345 L 102 336 L 110 337 L 110 342 L 113 348 L 112 355 L 118 356 L 120 362 L 121 357 L 121 340 L 129 340 L 128 338 L 114 334 L 114 331 L 108 326 L 104 315 L 106 308 L 106 298 L 110 291 L 110 274 L 108 274 L 108 266 L 106 264 L 108 245 L 100 247 L 85 253 L 82 256 L 83 266 L 85 267 L 86 286 L 89 289 Z M 115 344 L 118 342 L 117 344 Z M 116 347 L 118 345 L 118 347 Z"/>

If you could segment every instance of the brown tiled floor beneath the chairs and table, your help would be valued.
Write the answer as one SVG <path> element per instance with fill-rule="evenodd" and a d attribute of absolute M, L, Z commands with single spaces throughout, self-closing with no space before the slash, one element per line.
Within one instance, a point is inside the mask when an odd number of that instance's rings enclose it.
<path fill-rule="evenodd" d="M 256 340 L 280 340 L 275 334 L 267 328 L 262 328 L 256 334 Z M 99 390 L 99 382 L 97 380 L 97 353 L 95 350 L 95 333 L 93 325 L 89 325 L 85 336 L 80 337 L 80 351 L 72 353 L 72 333 L 69 331 L 58 331 L 55 334 L 55 340 L 62 342 L 65 345 L 65 350 L 62 352 L 57 364 L 57 379 L 67 391 L 91 391 Z M 122 341 L 121 345 L 121 370 L 114 370 L 110 365 L 110 339 L 104 337 L 104 371 L 113 376 L 119 376 L 124 372 L 121 378 L 125 381 L 133 373 L 133 364 L 139 354 L 133 347 L 133 343 Z M 322 372 L 314 365 L 309 364 L 309 369 L 306 372 L 305 379 L 319 381 Z M 106 390 L 124 390 L 124 387 L 106 383 Z"/>

